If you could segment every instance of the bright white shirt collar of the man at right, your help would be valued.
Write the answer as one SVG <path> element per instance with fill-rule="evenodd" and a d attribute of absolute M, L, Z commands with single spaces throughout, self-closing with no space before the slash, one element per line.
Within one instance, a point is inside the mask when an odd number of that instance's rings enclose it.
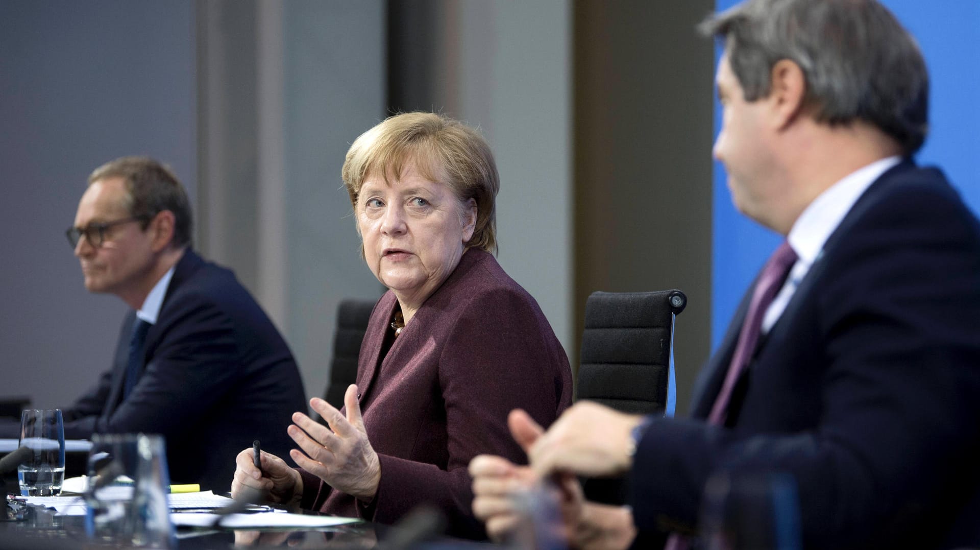
<path fill-rule="evenodd" d="M 900 162 L 902 158 L 897 156 L 875 161 L 844 176 L 809 203 L 786 237 L 801 264 L 809 267 L 816 260 L 823 244 L 858 202 L 858 197 L 878 177 Z"/>

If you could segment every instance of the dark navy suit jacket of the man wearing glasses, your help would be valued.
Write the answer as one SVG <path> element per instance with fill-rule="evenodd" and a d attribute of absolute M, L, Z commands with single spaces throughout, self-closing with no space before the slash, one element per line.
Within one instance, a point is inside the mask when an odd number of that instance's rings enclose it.
<path fill-rule="evenodd" d="M 175 483 L 226 490 L 235 455 L 261 439 L 286 456 L 286 426 L 306 411 L 292 354 L 255 299 L 230 271 L 188 249 L 177 262 L 156 325 L 146 335 L 145 367 L 123 396 L 129 335 L 120 332 L 114 367 L 66 409 L 65 436 L 161 433 Z"/>

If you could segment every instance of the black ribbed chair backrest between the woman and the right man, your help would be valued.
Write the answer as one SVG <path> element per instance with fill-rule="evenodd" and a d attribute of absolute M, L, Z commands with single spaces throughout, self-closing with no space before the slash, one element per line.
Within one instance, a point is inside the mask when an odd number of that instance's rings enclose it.
<path fill-rule="evenodd" d="M 673 321 L 686 305 L 680 290 L 593 292 L 585 303 L 576 399 L 625 413 L 662 413 Z"/>

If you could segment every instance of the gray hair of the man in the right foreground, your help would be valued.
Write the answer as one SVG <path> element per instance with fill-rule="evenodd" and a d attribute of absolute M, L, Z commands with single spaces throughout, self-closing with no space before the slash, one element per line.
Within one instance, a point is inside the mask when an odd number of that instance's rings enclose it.
<path fill-rule="evenodd" d="M 700 29 L 725 40 L 746 101 L 767 96 L 772 67 L 788 59 L 807 79 L 804 105 L 817 121 L 875 125 L 907 155 L 925 141 L 925 61 L 915 39 L 876 0 L 747 0 Z"/>

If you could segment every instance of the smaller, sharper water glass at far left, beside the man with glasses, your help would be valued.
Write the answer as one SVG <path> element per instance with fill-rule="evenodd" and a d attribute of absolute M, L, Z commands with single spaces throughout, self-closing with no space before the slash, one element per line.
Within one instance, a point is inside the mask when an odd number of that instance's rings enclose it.
<path fill-rule="evenodd" d="M 20 446 L 30 450 L 17 467 L 21 494 L 61 494 L 65 480 L 65 424 L 61 410 L 25 409 L 21 413 Z"/>

